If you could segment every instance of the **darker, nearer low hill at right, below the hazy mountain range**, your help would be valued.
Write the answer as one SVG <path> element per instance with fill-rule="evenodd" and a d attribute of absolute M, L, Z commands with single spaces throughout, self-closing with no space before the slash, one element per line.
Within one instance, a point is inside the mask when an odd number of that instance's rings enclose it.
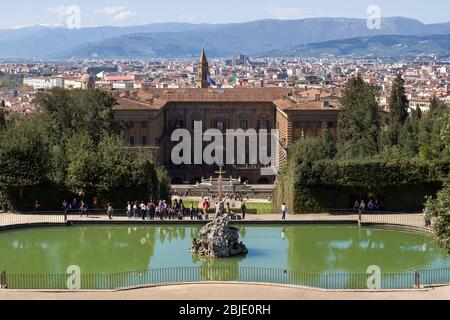
<path fill-rule="evenodd" d="M 399 57 L 450 55 L 450 34 L 431 36 L 385 35 L 303 44 L 261 54 L 271 57 L 368 56 Z"/>

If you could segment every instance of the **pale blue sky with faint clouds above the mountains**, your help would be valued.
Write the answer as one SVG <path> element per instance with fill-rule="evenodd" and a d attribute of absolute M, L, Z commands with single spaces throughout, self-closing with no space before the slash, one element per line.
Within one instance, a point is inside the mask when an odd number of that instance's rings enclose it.
<path fill-rule="evenodd" d="M 228 23 L 309 17 L 367 18 L 376 5 L 384 17 L 424 23 L 450 21 L 449 0 L 2 0 L 0 29 L 31 25 L 81 27 L 153 22 Z"/>

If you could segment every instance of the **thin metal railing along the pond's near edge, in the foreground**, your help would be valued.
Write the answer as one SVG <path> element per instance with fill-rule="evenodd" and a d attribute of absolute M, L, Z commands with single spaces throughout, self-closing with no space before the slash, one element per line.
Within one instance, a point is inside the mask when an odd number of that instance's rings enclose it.
<path fill-rule="evenodd" d="M 2 289 L 116 290 L 202 282 L 293 285 L 329 290 L 413 289 L 450 283 L 450 268 L 380 274 L 314 273 L 256 267 L 173 267 L 114 274 L 9 274 L 2 272 Z M 74 284 L 75 285 L 74 287 Z"/>

